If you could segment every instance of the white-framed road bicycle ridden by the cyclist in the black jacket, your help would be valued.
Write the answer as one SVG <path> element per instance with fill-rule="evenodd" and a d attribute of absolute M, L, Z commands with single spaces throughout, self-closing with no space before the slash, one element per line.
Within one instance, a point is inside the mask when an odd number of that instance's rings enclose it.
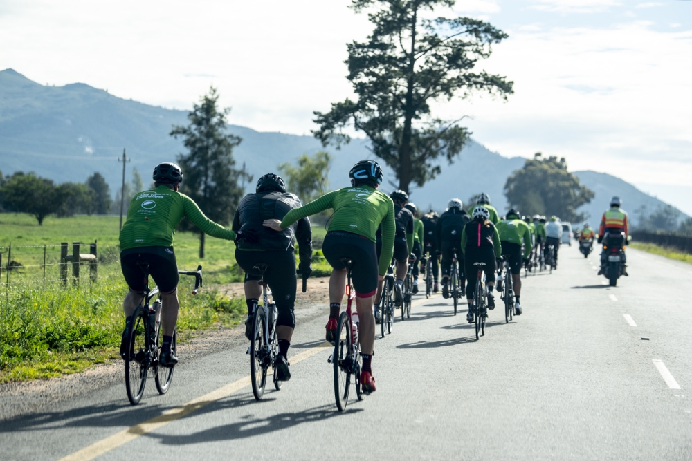
<path fill-rule="evenodd" d="M 277 371 L 274 366 L 279 354 L 279 342 L 276 338 L 276 318 L 278 310 L 276 303 L 270 301 L 271 290 L 268 290 L 264 277 L 269 270 L 267 264 L 258 264 L 253 270 L 260 272 L 260 285 L 262 285 L 262 304 L 257 305 L 253 312 L 252 335 L 248 354 L 250 355 L 250 376 L 253 384 L 253 395 L 256 400 L 262 399 L 266 387 L 266 375 L 269 368 L 273 370 L 274 388 L 279 391 L 282 382 L 277 379 Z"/>

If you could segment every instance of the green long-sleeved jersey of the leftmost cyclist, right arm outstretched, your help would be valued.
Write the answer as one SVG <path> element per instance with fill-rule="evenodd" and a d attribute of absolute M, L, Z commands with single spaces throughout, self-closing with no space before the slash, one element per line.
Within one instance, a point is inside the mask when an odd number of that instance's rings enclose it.
<path fill-rule="evenodd" d="M 235 232 L 204 216 L 190 197 L 161 185 L 132 198 L 120 231 L 120 250 L 170 247 L 183 218 L 212 237 L 235 240 Z"/>

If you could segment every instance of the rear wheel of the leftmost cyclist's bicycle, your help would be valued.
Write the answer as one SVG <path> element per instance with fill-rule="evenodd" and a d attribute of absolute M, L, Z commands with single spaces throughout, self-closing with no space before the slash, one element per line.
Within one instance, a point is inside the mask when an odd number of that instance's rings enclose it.
<path fill-rule="evenodd" d="M 142 399 L 144 387 L 147 385 L 149 371 L 149 335 L 147 316 L 141 306 L 132 314 L 132 328 L 129 334 L 129 357 L 125 361 L 125 388 L 130 403 L 136 405 Z"/>

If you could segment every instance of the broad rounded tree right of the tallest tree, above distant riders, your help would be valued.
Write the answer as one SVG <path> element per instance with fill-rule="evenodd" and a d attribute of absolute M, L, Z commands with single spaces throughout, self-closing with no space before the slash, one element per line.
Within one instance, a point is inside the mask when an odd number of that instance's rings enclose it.
<path fill-rule="evenodd" d="M 594 198 L 594 192 L 567 171 L 565 158 L 543 158 L 540 152 L 511 173 L 504 184 L 504 195 L 509 205 L 522 214 L 554 214 L 572 222 L 584 219 L 576 209 Z"/>

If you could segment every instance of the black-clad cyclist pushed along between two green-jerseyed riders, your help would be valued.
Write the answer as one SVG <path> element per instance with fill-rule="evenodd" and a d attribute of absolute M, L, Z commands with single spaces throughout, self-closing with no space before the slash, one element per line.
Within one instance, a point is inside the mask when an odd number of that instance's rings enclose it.
<path fill-rule="evenodd" d="M 276 337 L 279 343 L 279 357 L 275 366 L 277 379 L 291 379 L 288 352 L 295 328 L 295 248 L 293 241 L 298 239 L 300 252 L 300 273 L 304 278 L 310 276 L 312 269 L 312 229 L 308 218 L 299 219 L 282 232 L 274 232 L 262 223 L 265 219 L 283 218 L 291 209 L 300 207 L 297 196 L 286 192 L 286 184 L 281 176 L 267 173 L 257 180 L 255 194 L 247 194 L 240 200 L 233 216 L 234 231 L 251 229 L 257 234 L 257 242 L 242 241 L 235 247 L 235 261 L 245 271 L 245 300 L 248 305 L 248 318 L 245 322 L 245 336 L 251 339 L 253 312 L 262 296 L 262 279 L 255 266 L 266 264 L 265 281 L 276 303 Z"/>

